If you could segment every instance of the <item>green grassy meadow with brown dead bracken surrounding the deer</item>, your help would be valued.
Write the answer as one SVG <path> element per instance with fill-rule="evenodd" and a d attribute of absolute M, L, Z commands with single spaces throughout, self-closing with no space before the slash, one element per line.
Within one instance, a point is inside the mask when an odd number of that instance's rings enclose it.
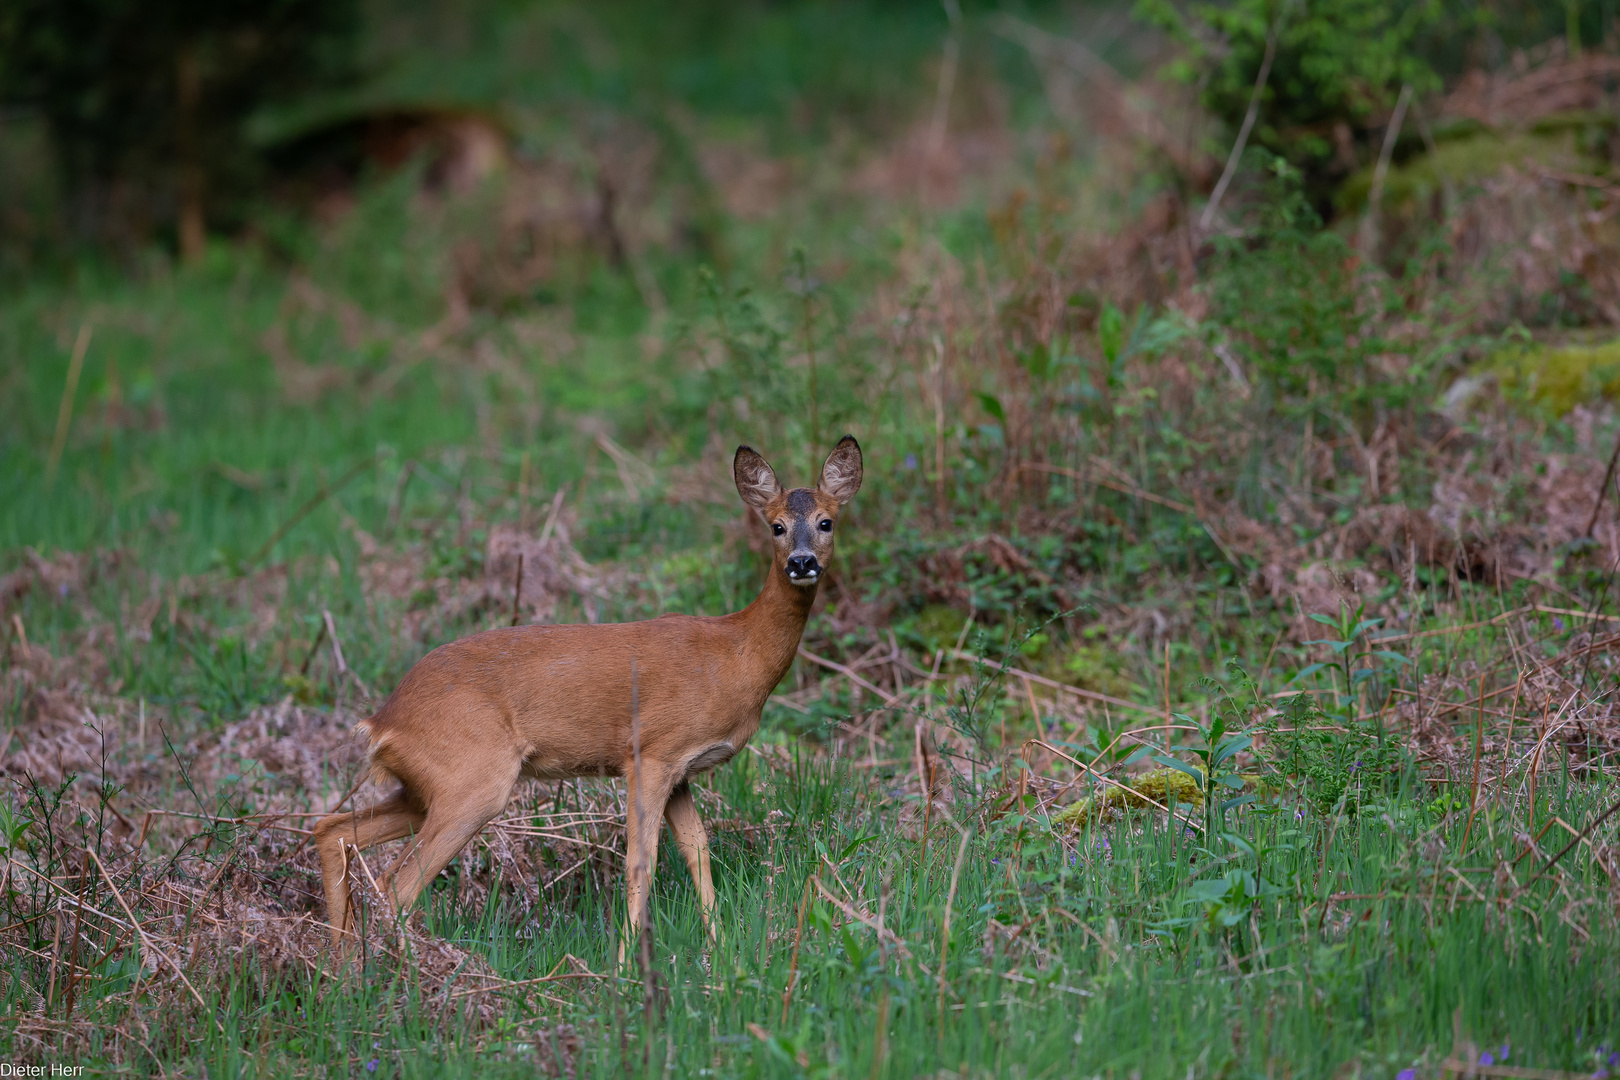
<path fill-rule="evenodd" d="M 198 259 L 5 280 L 0 1057 L 1620 1070 L 1620 419 L 1597 361 L 1536 381 L 1609 355 L 1601 183 L 1448 176 L 1380 261 L 1260 151 L 1200 233 L 1024 23 L 408 11 L 324 108 L 499 105 L 497 164 L 450 128 Z M 1160 92 L 1129 13 L 1027 15 Z M 622 789 L 525 782 L 405 920 L 368 855 L 340 963 L 305 840 L 352 725 L 471 631 L 742 607 L 734 449 L 808 484 L 844 432 L 800 659 L 698 785 L 718 936 L 666 840 L 620 965 Z"/>

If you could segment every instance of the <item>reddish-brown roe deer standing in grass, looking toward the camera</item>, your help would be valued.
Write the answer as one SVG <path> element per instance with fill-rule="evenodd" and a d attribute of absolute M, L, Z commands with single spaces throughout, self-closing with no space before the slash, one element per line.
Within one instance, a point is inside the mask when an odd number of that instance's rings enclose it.
<path fill-rule="evenodd" d="M 765 588 L 740 612 L 475 633 L 418 661 L 360 724 L 373 776 L 400 789 L 314 827 L 334 946 L 350 934 L 348 848 L 415 834 L 382 878 L 394 910 L 405 912 L 522 776 L 625 777 L 630 939 L 648 902 L 659 813 L 714 933 L 708 836 L 688 782 L 760 730 L 765 699 L 799 651 L 839 508 L 860 489 L 860 445 L 844 436 L 813 489 L 782 491 L 750 447 L 737 447 L 732 476 L 773 536 Z"/>

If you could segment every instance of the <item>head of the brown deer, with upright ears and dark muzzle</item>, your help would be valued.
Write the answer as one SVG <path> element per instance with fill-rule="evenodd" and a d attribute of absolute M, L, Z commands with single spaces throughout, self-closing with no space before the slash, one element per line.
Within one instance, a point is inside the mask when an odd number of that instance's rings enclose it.
<path fill-rule="evenodd" d="M 839 510 L 860 491 L 860 444 L 854 436 L 839 439 L 815 487 L 784 491 L 753 447 L 737 447 L 732 476 L 742 500 L 771 526 L 771 573 L 815 586 L 833 559 Z"/>

